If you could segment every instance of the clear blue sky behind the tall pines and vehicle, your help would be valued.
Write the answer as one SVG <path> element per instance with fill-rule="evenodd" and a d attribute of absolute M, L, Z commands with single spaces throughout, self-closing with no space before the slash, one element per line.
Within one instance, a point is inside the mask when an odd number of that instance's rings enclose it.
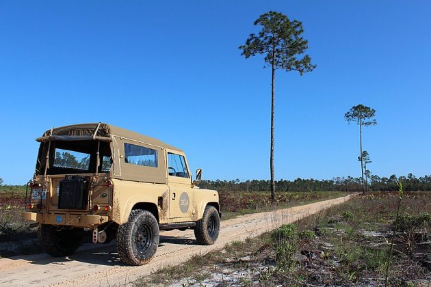
<path fill-rule="evenodd" d="M 317 64 L 276 74 L 276 179 L 360 176 L 359 103 L 373 174 L 431 174 L 429 1 L 0 1 L 0 178 L 31 178 L 51 126 L 99 121 L 204 178 L 269 178 L 270 70 L 237 49 L 269 10 L 302 21 Z"/>

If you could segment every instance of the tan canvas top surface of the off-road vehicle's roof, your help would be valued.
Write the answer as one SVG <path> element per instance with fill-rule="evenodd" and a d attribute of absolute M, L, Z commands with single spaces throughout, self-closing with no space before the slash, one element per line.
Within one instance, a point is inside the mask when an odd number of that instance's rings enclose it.
<path fill-rule="evenodd" d="M 134 131 L 129 131 L 125 128 L 120 128 L 118 126 L 113 126 L 112 124 L 106 123 L 88 123 L 88 124 L 70 124 L 68 126 L 60 126 L 58 128 L 53 128 L 52 135 L 71 135 L 71 136 L 89 136 L 94 135 L 96 132 L 96 136 L 99 137 L 107 137 L 107 136 L 116 136 L 123 137 L 127 139 L 132 139 L 135 141 L 141 141 L 143 143 L 148 143 L 153 146 L 158 146 L 160 148 L 169 148 L 171 150 L 177 150 L 179 152 L 183 152 L 183 150 L 176 148 L 174 146 L 168 145 L 168 143 L 164 143 L 159 139 L 155 139 L 154 137 L 148 137 L 146 135 L 142 135 L 140 133 L 136 133 Z M 51 129 L 46 131 L 43 134 L 43 137 L 47 137 L 51 135 Z"/>

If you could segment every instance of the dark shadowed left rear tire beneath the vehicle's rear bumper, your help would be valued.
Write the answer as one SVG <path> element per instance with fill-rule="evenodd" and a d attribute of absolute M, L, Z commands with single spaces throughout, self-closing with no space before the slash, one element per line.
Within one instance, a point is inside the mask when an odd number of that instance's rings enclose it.
<path fill-rule="evenodd" d="M 41 224 L 38 228 L 40 246 L 55 257 L 70 256 L 77 251 L 83 237 L 82 228 L 57 230 L 55 226 Z"/>

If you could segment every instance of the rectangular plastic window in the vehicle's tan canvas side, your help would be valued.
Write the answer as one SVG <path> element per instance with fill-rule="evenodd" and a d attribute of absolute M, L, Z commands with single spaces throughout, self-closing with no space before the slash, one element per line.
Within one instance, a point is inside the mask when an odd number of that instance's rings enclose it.
<path fill-rule="evenodd" d="M 125 163 L 157 167 L 157 150 L 125 143 Z"/>

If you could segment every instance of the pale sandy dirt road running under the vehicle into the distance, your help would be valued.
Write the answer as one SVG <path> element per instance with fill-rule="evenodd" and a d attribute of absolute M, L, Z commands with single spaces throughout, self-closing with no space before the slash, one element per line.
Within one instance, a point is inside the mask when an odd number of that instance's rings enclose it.
<path fill-rule="evenodd" d="M 115 243 L 83 245 L 68 258 L 47 254 L 0 259 L 0 286 L 124 286 L 166 265 L 180 264 L 195 254 L 207 254 L 234 240 L 244 240 L 291 223 L 350 198 L 315 202 L 267 213 L 255 213 L 222 221 L 217 243 L 197 245 L 192 230 L 161 232 L 153 260 L 140 267 L 120 262 Z"/>

